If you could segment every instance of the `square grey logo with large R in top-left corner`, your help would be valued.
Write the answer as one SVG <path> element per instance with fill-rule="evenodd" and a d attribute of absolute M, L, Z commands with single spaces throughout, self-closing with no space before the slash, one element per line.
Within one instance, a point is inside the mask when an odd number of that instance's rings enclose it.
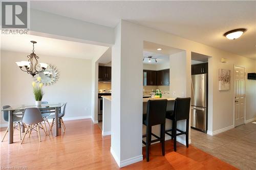
<path fill-rule="evenodd" d="M 28 28 L 27 2 L 2 2 L 2 28 Z"/>

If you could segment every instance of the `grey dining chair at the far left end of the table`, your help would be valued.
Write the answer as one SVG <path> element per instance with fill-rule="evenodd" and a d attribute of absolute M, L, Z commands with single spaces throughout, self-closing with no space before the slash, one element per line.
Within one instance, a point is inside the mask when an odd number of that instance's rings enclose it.
<path fill-rule="evenodd" d="M 8 107 L 11 107 L 11 106 L 6 105 L 6 106 L 3 106 L 2 108 L 6 109 Z M 13 119 L 13 132 L 14 132 L 15 129 L 17 129 L 19 131 L 19 138 L 20 138 L 20 140 L 22 140 L 22 132 L 20 131 L 20 128 L 21 128 L 21 126 L 26 127 L 26 125 L 22 123 L 22 117 L 18 117 L 15 114 L 13 114 L 12 119 Z M 8 113 L 8 111 L 4 111 L 4 120 L 6 122 L 9 122 L 9 113 Z M 16 124 L 17 124 L 17 128 L 15 127 Z M 9 130 L 9 127 L 5 131 L 5 134 L 4 134 L 4 137 L 2 139 L 2 142 L 4 141 L 5 136 L 6 136 L 7 132 L 8 132 L 8 130 Z"/>

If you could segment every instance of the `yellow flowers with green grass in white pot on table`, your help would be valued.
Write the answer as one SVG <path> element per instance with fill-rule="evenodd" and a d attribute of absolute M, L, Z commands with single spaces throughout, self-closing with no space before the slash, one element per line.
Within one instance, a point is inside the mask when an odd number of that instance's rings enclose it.
<path fill-rule="evenodd" d="M 42 91 L 42 86 L 44 84 L 41 83 L 41 77 L 37 77 L 37 81 L 39 84 L 37 84 L 36 82 L 32 82 L 33 93 L 35 96 L 35 105 L 41 106 L 42 96 L 44 96 L 44 92 Z"/>

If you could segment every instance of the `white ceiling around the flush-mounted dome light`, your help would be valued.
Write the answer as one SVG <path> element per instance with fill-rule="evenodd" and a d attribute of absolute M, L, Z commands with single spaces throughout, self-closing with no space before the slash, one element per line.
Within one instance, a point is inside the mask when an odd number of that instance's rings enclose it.
<path fill-rule="evenodd" d="M 31 1 L 30 5 L 112 28 L 120 19 L 129 20 L 256 59 L 256 1 Z M 241 38 L 223 37 L 237 28 L 247 29 Z"/>

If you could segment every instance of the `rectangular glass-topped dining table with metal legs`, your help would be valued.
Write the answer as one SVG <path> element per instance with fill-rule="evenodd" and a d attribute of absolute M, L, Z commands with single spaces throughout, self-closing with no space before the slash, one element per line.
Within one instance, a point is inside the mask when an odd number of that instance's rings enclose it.
<path fill-rule="evenodd" d="M 49 104 L 41 104 L 41 106 L 36 105 L 19 105 L 19 106 L 11 106 L 5 109 L 2 109 L 1 111 L 8 111 L 9 115 L 9 122 L 8 122 L 8 135 L 9 135 L 9 144 L 13 143 L 13 114 L 17 112 L 24 113 L 24 110 L 26 108 L 38 108 L 42 113 L 54 113 L 55 114 L 55 136 L 59 135 L 59 118 L 58 113 L 60 112 L 61 107 L 64 105 L 64 103 L 49 103 Z M 24 127 L 23 130 L 24 132 Z"/>

